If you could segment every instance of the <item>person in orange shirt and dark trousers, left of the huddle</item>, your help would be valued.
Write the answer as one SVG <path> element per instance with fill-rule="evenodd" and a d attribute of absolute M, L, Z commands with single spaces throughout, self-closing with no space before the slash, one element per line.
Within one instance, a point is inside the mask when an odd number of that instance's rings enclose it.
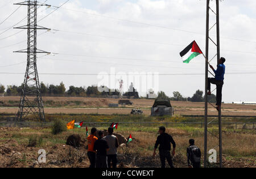
<path fill-rule="evenodd" d="M 94 147 L 94 143 L 96 140 L 98 140 L 98 138 L 95 136 L 96 135 L 96 128 L 92 128 L 90 130 L 90 135 L 87 137 L 87 141 L 88 141 L 88 158 L 90 160 L 90 167 L 89 168 L 95 168 L 95 164 L 96 164 L 96 151 L 93 150 Z"/>

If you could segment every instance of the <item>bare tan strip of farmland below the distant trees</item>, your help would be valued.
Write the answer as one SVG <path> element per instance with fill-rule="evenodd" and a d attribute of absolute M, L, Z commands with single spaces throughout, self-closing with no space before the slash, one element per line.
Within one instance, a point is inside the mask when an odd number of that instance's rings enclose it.
<path fill-rule="evenodd" d="M 98 113 L 98 114 L 130 114 L 130 108 L 139 108 L 143 113 L 150 115 L 151 106 L 154 100 L 147 99 L 131 99 L 133 105 L 123 106 L 125 108 L 108 108 L 109 104 L 117 104 L 119 99 L 104 99 L 90 97 L 43 97 L 44 101 L 55 101 L 58 104 L 65 104 L 71 101 L 80 101 L 80 105 L 57 106 L 57 108 L 45 108 L 48 114 L 54 113 Z M 0 101 L 19 101 L 19 97 L 0 97 Z M 175 114 L 178 115 L 204 115 L 204 103 L 192 103 L 184 101 L 171 101 L 175 108 Z M 119 105 L 120 107 L 120 105 Z M 127 109 L 129 108 L 129 109 Z M 217 110 L 212 105 L 208 105 L 209 115 L 217 115 Z M 17 108 L 1 107 L 0 113 L 16 113 Z M 238 105 L 223 104 L 222 115 L 226 116 L 256 116 L 256 105 Z"/>

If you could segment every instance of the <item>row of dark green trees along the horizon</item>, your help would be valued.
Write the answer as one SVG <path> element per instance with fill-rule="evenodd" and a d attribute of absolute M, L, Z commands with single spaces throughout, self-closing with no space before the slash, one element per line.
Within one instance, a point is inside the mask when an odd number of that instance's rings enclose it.
<path fill-rule="evenodd" d="M 5 96 L 19 96 L 22 93 L 22 86 L 3 86 L 0 84 L 0 93 L 5 93 Z M 89 86 L 89 87 L 75 87 L 75 86 L 69 86 L 67 89 L 63 82 L 61 82 L 59 85 L 53 85 L 53 84 L 44 84 L 43 82 L 40 84 L 41 86 L 41 93 L 42 96 L 73 96 L 73 97 L 86 97 L 86 96 L 92 96 L 92 97 L 101 97 L 101 96 L 126 96 L 127 98 L 133 96 L 134 98 L 139 98 L 139 93 L 135 89 L 133 83 L 131 83 L 128 92 L 125 92 L 121 94 L 119 90 L 114 89 L 111 90 L 108 87 L 102 86 L 102 89 L 104 89 L 103 92 L 98 91 L 97 86 Z M 150 90 L 148 93 L 154 94 L 154 91 Z M 191 102 L 203 102 L 205 99 L 205 96 L 203 96 L 204 92 L 197 90 L 195 94 L 192 97 L 183 97 L 180 92 L 175 91 L 173 92 L 173 97 L 168 97 L 166 93 L 163 91 L 158 92 L 156 95 L 156 99 L 167 99 L 171 101 L 191 101 Z M 216 103 L 216 96 L 210 95 L 208 96 L 208 100 L 210 103 Z"/>

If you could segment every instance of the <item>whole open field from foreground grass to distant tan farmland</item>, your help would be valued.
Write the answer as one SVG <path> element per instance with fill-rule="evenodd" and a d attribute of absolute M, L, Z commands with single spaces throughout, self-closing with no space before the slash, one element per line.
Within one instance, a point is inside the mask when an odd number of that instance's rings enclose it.
<path fill-rule="evenodd" d="M 119 122 L 118 130 L 115 132 L 124 137 L 131 134 L 134 140 L 129 146 L 118 149 L 118 167 L 160 167 L 159 156 L 152 158 L 159 125 L 167 127 L 167 133 L 172 135 L 177 144 L 174 156 L 175 167 L 187 167 L 186 148 L 190 138 L 196 140 L 201 151 L 204 150 L 204 118 L 183 116 L 203 115 L 204 103 L 172 101 L 175 108 L 174 117 L 151 117 L 149 115 L 150 108 L 154 100 L 131 100 L 133 105 L 120 106 L 119 109 L 108 108 L 110 103 L 117 103 L 118 99 L 44 97 L 44 100 L 46 101 L 47 122 L 56 120 L 61 120 L 63 123 L 71 120 L 84 121 L 89 130 L 93 126 L 104 130 L 110 123 Z M 53 135 L 51 127 L 5 127 L 5 122 L 14 120 L 18 103 L 19 97 L 0 99 L 0 126 L 2 126 L 0 127 L 0 167 L 89 167 L 84 128 Z M 130 108 L 141 108 L 144 113 L 139 116 L 130 115 Z M 256 167 L 255 129 L 252 124 L 242 129 L 243 123 L 256 121 L 256 106 L 224 104 L 222 108 L 222 114 L 237 116 L 222 117 L 222 122 L 224 122 L 222 125 L 224 167 Z M 211 108 L 209 114 L 217 115 L 217 112 Z M 212 119 L 213 117 L 209 117 L 209 121 Z M 29 117 L 26 122 L 35 122 L 35 119 Z M 143 122 L 157 122 L 158 124 Z M 170 122 L 172 124 L 167 125 Z M 180 124 L 180 122 L 198 123 Z M 238 124 L 225 124 L 227 122 L 237 122 Z M 210 125 L 209 131 L 217 135 L 217 124 Z M 65 144 L 68 136 L 72 134 L 81 136 L 81 147 L 73 148 Z M 28 147 L 31 141 L 34 143 L 33 147 Z M 217 138 L 209 134 L 208 150 L 217 145 Z M 40 149 L 47 152 L 45 164 L 37 162 Z M 217 164 L 209 164 L 209 167 L 217 167 Z"/>

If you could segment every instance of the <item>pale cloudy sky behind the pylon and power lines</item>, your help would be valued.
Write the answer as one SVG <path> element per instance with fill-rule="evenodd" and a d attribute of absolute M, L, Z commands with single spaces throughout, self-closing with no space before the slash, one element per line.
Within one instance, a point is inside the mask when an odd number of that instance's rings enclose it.
<path fill-rule="evenodd" d="M 48 0 L 46 3 L 52 6 L 38 8 L 38 20 L 65 1 Z M 1 23 L 19 7 L 13 5 L 17 2 L 0 0 L 0 83 L 5 86 L 20 85 L 26 70 L 26 54 L 13 51 L 26 49 L 27 32 L 6 28 L 25 18 L 27 7 L 20 7 Z M 215 1 L 210 2 L 210 7 L 215 10 Z M 155 91 L 164 91 L 168 96 L 174 91 L 192 96 L 196 90 L 204 91 L 205 59 L 198 56 L 184 64 L 179 53 L 193 40 L 205 52 L 205 14 L 205 0 L 70 0 L 38 22 L 51 29 L 38 31 L 38 49 L 51 52 L 38 54 L 40 82 L 63 82 L 66 88 L 88 87 L 102 82 L 97 74 L 159 73 L 169 75 L 155 79 Z M 210 27 L 215 22 L 215 15 L 210 12 Z M 15 27 L 26 23 L 24 19 Z M 226 58 L 222 92 L 225 103 L 256 101 L 255 29 L 256 1 L 220 3 L 220 49 Z M 216 41 L 215 27 L 210 30 L 210 37 Z M 216 47 L 210 42 L 209 48 L 212 59 Z M 211 63 L 216 67 L 217 58 Z M 146 95 L 150 87 L 144 85 L 143 78 L 139 79 L 123 78 L 124 90 L 133 82 L 140 94 Z M 103 83 L 109 86 L 110 81 Z M 118 86 L 118 76 L 114 84 Z"/>

